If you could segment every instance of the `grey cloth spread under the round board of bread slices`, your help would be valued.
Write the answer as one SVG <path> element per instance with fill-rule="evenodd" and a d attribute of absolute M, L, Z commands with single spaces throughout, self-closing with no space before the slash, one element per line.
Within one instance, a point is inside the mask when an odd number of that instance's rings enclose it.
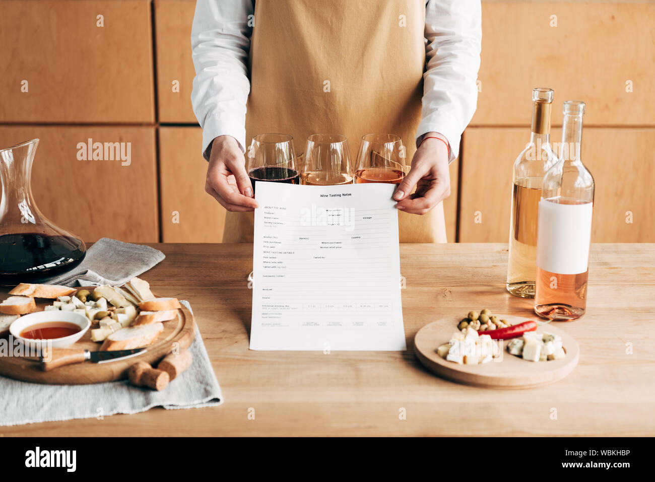
<path fill-rule="evenodd" d="M 191 310 L 186 301 L 181 303 Z M 72 418 L 139 413 L 152 407 L 188 409 L 223 403 L 200 332 L 189 347 L 193 363 L 161 392 L 138 388 L 127 381 L 89 385 L 43 385 L 0 377 L 0 426 Z M 129 435 L 129 434 L 120 434 Z"/>

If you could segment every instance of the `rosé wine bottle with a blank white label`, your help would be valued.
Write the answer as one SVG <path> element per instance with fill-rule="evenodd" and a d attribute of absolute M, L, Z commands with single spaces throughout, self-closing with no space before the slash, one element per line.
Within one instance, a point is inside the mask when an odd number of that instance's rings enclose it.
<path fill-rule="evenodd" d="M 559 160 L 542 183 L 534 312 L 548 320 L 576 320 L 587 305 L 594 185 L 580 158 L 584 107 L 564 103 Z"/>

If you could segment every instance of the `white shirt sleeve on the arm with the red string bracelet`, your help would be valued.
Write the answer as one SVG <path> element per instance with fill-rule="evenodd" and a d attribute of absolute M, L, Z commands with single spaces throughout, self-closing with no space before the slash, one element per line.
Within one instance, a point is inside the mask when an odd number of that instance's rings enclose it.
<path fill-rule="evenodd" d="M 450 144 L 451 162 L 476 111 L 481 23 L 480 0 L 426 1 L 426 72 L 417 143 L 428 132 L 442 134 Z"/>

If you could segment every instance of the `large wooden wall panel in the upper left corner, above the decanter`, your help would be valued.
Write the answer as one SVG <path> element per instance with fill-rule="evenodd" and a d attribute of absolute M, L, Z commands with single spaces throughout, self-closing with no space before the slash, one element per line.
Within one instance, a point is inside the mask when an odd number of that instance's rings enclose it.
<path fill-rule="evenodd" d="M 0 122 L 154 122 L 151 30 L 148 0 L 3 0 Z"/>

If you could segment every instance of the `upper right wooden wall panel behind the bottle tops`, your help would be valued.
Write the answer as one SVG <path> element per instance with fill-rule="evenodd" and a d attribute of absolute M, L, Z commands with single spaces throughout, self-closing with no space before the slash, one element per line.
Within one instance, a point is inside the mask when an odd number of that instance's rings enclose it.
<path fill-rule="evenodd" d="M 472 125 L 529 124 L 531 90 L 541 86 L 555 90 L 553 124 L 562 101 L 579 99 L 588 125 L 653 125 L 655 3 L 487 1 L 482 13 Z"/>

